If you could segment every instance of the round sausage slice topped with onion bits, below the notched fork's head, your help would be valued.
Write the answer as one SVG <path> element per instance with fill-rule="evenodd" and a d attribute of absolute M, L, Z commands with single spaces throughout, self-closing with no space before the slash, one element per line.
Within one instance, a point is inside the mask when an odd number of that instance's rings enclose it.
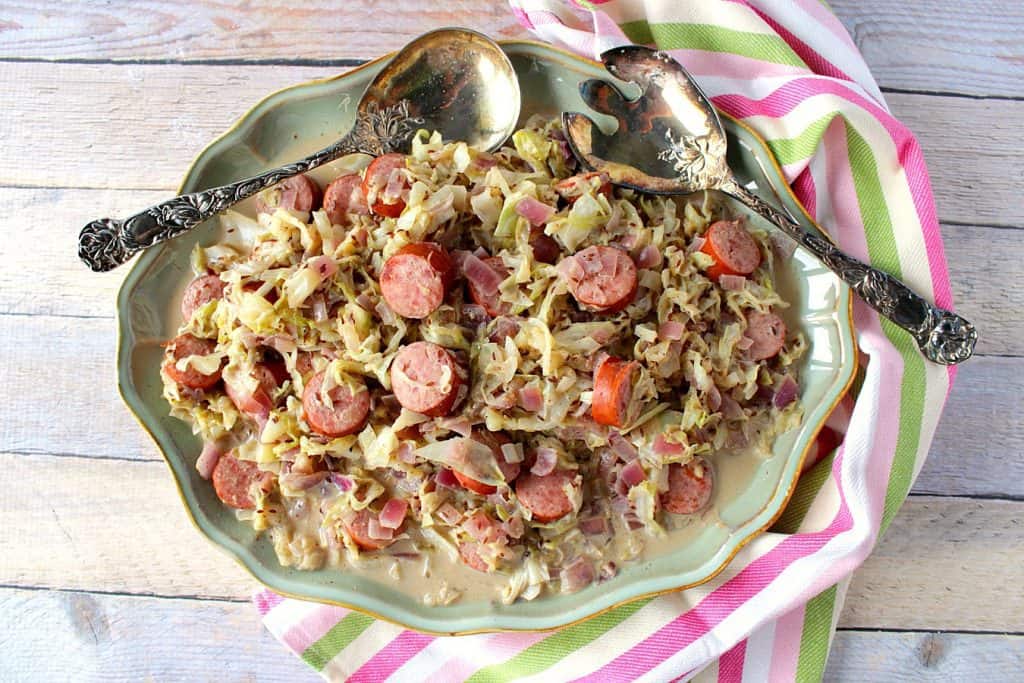
<path fill-rule="evenodd" d="M 613 313 L 628 306 L 637 293 L 637 266 L 614 247 L 587 247 L 558 264 L 569 292 L 589 310 Z"/>

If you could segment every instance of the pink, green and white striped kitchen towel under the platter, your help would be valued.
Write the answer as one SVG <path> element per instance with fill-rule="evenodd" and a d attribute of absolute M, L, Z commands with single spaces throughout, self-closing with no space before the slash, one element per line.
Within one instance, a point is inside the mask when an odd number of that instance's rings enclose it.
<path fill-rule="evenodd" d="M 921 148 L 819 0 L 513 0 L 512 11 L 587 56 L 668 50 L 768 140 L 843 249 L 951 307 Z M 860 302 L 854 318 L 865 362 L 842 445 L 714 581 L 553 633 L 461 638 L 262 592 L 267 628 L 332 680 L 820 679 L 850 574 L 906 497 L 954 376 Z"/>

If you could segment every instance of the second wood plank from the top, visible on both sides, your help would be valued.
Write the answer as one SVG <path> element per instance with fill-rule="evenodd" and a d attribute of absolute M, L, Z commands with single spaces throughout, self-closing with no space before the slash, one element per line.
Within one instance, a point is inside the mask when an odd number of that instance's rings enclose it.
<path fill-rule="evenodd" d="M 9 93 L 0 120 L 0 185 L 173 189 L 191 159 L 263 96 L 343 71 L 0 63 L 0 89 Z M 1016 201 L 1024 177 L 1016 122 L 1024 120 L 1024 101 L 889 99 L 921 138 L 941 219 L 1024 226 Z M 60 134 L 41 135 L 54 121 Z M 958 132 L 966 130 L 970 144 Z"/>

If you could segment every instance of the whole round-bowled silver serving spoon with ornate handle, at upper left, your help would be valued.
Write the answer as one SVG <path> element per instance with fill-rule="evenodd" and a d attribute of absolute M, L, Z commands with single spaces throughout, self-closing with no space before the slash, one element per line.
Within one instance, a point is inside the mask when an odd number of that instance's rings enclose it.
<path fill-rule="evenodd" d="M 432 31 L 377 75 L 362 93 L 352 130 L 334 144 L 252 178 L 175 197 L 123 221 L 93 221 L 79 234 L 79 258 L 93 270 L 111 270 L 293 175 L 349 154 L 402 151 L 420 128 L 496 150 L 515 129 L 519 103 L 515 70 L 496 42 L 466 29 Z"/>

